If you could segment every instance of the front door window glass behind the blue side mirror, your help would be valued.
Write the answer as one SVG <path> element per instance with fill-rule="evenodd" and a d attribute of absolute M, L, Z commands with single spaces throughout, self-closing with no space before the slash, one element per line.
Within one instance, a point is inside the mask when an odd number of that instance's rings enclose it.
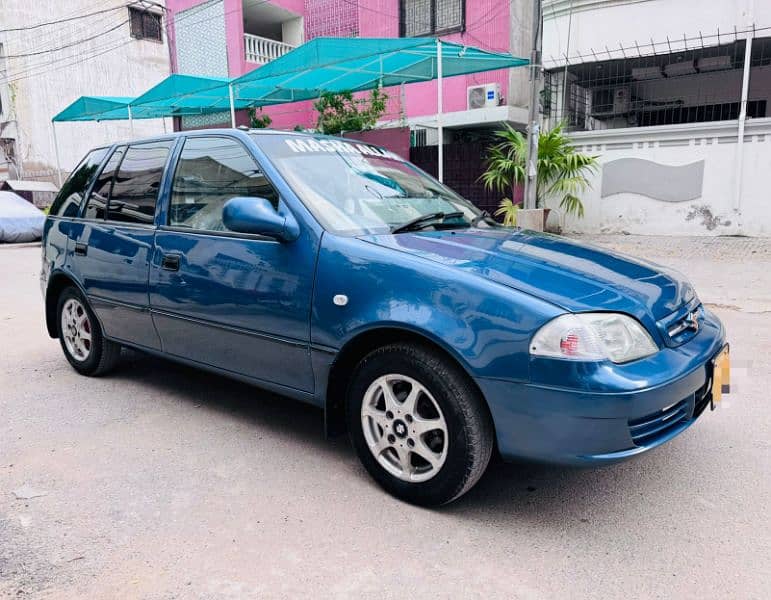
<path fill-rule="evenodd" d="M 222 207 L 236 196 L 267 198 L 278 207 L 278 193 L 240 142 L 188 138 L 174 174 L 169 224 L 225 231 Z"/>

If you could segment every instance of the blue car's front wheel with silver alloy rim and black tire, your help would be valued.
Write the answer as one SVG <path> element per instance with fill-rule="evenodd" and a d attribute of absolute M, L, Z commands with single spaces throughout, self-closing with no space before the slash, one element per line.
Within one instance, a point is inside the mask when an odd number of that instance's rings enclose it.
<path fill-rule="evenodd" d="M 432 348 L 396 343 L 371 352 L 354 371 L 346 410 L 362 464 L 407 502 L 451 502 L 490 461 L 494 432 L 484 399 Z"/>

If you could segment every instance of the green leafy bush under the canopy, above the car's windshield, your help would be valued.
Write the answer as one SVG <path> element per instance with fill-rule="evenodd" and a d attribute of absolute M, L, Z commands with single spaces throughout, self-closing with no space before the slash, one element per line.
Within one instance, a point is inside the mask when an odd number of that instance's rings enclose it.
<path fill-rule="evenodd" d="M 372 90 L 366 98 L 354 98 L 352 92 L 324 92 L 313 103 L 319 113 L 317 127 L 330 135 L 372 129 L 385 112 L 387 100 L 381 89 Z"/>

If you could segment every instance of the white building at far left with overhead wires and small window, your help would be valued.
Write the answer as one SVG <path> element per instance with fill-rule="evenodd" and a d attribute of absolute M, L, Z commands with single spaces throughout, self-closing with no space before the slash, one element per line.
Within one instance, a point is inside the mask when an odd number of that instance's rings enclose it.
<path fill-rule="evenodd" d="M 0 180 L 56 182 L 51 118 L 79 96 L 136 96 L 158 83 L 170 72 L 166 40 L 162 0 L 3 0 Z M 134 123 L 137 137 L 162 130 Z M 130 133 L 126 121 L 57 124 L 64 174 Z"/>

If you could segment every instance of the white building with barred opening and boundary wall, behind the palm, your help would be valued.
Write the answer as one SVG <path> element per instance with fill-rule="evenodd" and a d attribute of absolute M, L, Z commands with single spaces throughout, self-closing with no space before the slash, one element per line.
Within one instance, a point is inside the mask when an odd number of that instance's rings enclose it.
<path fill-rule="evenodd" d="M 771 2 L 545 0 L 543 59 L 601 163 L 568 230 L 771 235 Z"/>

